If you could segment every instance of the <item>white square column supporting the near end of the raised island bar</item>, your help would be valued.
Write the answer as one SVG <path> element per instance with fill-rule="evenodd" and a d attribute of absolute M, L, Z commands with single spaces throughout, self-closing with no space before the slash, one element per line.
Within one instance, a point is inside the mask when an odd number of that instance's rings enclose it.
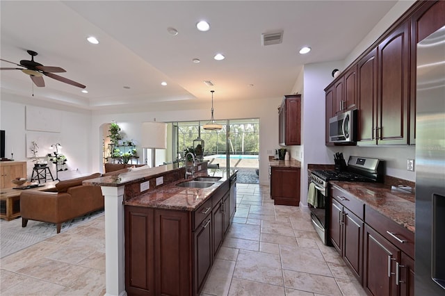
<path fill-rule="evenodd" d="M 124 186 L 101 188 L 105 197 L 105 295 L 124 296 Z"/>

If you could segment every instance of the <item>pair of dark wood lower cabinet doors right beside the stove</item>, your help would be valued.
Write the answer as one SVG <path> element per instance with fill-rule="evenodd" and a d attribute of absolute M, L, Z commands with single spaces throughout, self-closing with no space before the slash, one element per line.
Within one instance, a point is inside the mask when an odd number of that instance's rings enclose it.
<path fill-rule="evenodd" d="M 362 283 L 364 222 L 334 197 L 332 197 L 330 206 L 332 245 L 353 270 L 355 277 Z"/>

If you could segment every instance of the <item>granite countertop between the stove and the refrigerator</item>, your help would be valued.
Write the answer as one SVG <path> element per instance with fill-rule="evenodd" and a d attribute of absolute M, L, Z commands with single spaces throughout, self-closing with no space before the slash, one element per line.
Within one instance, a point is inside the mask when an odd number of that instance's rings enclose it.
<path fill-rule="evenodd" d="M 366 206 L 389 217 L 397 224 L 415 232 L 415 194 L 391 189 L 390 183 L 329 181 L 346 190 Z M 365 208 L 366 219 L 366 208 Z"/>

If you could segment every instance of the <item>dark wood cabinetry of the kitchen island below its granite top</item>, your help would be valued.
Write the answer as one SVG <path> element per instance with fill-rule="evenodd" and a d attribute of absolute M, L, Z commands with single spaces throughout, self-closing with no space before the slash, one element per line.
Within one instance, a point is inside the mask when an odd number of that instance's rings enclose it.
<path fill-rule="evenodd" d="M 126 205 L 128 295 L 200 295 L 230 225 L 229 197 L 227 179 L 194 211 Z"/>

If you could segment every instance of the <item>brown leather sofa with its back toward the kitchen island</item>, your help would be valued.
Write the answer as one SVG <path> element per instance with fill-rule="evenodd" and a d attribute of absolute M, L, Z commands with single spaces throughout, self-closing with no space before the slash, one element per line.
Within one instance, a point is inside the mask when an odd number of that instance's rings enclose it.
<path fill-rule="evenodd" d="M 104 196 L 100 186 L 83 186 L 82 181 L 98 178 L 100 173 L 81 178 L 60 181 L 57 192 L 31 191 L 20 194 L 22 227 L 28 220 L 55 223 L 60 233 L 63 222 L 81 217 L 104 208 Z"/>

